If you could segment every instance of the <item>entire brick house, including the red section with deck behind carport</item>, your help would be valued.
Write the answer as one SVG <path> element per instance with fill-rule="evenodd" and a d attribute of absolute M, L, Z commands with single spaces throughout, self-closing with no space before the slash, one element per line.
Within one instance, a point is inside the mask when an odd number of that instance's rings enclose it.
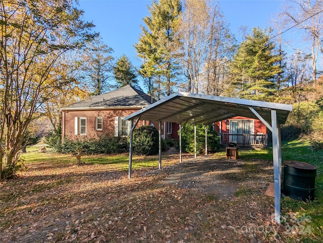
<path fill-rule="evenodd" d="M 124 136 L 130 133 L 130 121 L 124 117 L 150 105 L 156 100 L 132 86 L 124 86 L 105 94 L 90 97 L 64 107 L 62 111 L 62 139 L 99 138 Z M 159 123 L 139 120 L 137 128 Z M 179 124 L 161 122 L 161 137 L 178 140 Z M 214 130 L 221 135 L 221 143 L 237 142 L 239 145 L 266 145 L 266 127 L 258 119 L 236 116 L 214 123 Z"/>

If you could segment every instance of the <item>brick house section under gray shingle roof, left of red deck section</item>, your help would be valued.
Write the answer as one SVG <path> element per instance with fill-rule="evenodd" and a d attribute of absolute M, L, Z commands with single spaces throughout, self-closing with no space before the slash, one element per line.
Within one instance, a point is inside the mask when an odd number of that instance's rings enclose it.
<path fill-rule="evenodd" d="M 62 111 L 62 139 L 99 138 L 100 136 L 124 136 L 130 133 L 130 121 L 124 117 L 150 105 L 155 100 L 132 86 L 124 86 L 105 94 L 90 97 L 64 107 Z M 158 123 L 150 120 L 139 120 L 137 127 Z M 163 122 L 163 138 L 177 136 L 176 124 Z"/>

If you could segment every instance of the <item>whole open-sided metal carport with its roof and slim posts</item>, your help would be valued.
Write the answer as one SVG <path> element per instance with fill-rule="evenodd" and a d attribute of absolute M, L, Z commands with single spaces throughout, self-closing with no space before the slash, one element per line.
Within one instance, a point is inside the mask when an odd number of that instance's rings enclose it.
<path fill-rule="evenodd" d="M 159 168 L 161 168 L 161 121 L 180 124 L 181 146 L 182 123 L 208 125 L 238 115 L 258 118 L 273 134 L 275 220 L 280 223 L 282 165 L 280 125 L 285 123 L 291 110 L 292 106 L 288 104 L 184 92 L 174 93 L 124 118 L 131 120 L 129 178 L 132 167 L 133 130 L 139 119 L 159 121 Z M 134 120 L 136 120 L 135 123 Z"/>

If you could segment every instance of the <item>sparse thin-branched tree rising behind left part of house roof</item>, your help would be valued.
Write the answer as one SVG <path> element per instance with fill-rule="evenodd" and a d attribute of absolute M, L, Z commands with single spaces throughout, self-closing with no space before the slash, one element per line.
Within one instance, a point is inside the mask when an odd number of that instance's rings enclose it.
<path fill-rule="evenodd" d="M 88 84 L 92 95 L 99 95 L 111 88 L 108 81 L 113 76 L 113 49 L 98 36 L 84 49 L 82 79 Z"/>

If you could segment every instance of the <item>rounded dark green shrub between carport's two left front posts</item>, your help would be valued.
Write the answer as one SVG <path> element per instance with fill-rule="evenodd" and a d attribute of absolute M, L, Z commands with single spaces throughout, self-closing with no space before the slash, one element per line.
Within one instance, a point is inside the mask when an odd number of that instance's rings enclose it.
<path fill-rule="evenodd" d="M 159 151 L 158 131 L 152 126 L 142 126 L 133 132 L 133 152 L 153 155 Z"/>

